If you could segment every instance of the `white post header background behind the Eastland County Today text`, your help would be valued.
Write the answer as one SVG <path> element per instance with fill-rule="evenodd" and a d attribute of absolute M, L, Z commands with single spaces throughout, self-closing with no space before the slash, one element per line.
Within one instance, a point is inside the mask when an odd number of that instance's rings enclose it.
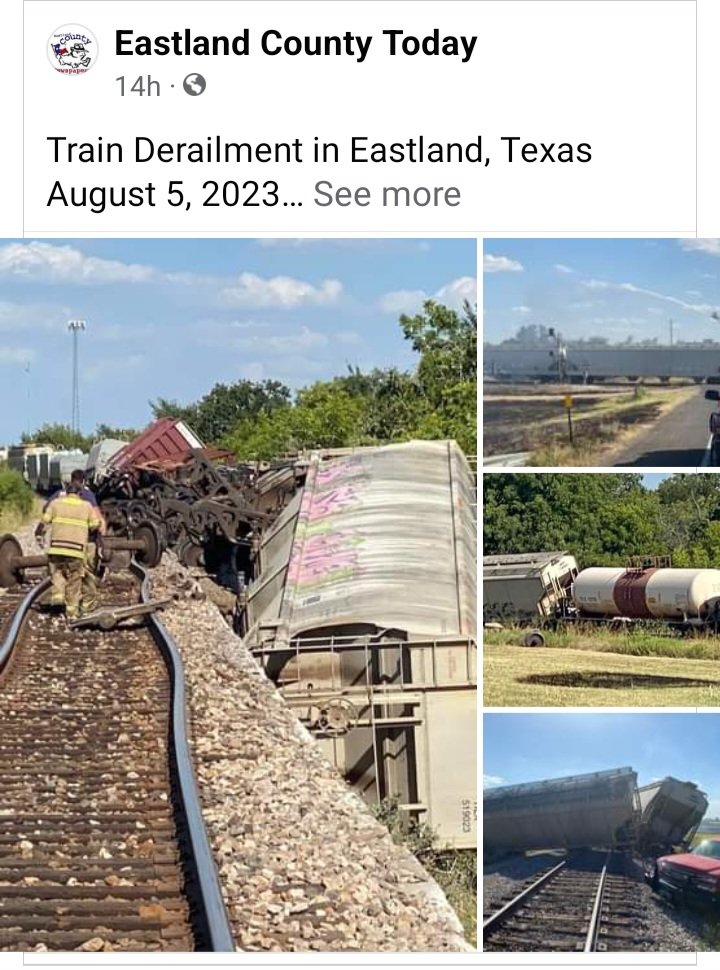
<path fill-rule="evenodd" d="M 63 76 L 47 58 L 49 34 L 78 22 L 97 36 L 97 64 Z M 117 57 L 114 30 L 229 34 L 249 27 L 249 57 Z M 374 34 L 368 59 L 268 57 L 259 35 Z M 390 57 L 384 28 L 424 35 L 477 34 L 475 53 L 460 58 Z M 182 78 L 201 71 L 201 97 Z M 159 98 L 121 98 L 115 78 L 150 74 Z M 7 77 L 7 74 L 5 75 Z M 25 3 L 24 213 L 17 191 L 5 206 L 5 234 L 96 231 L 225 231 L 256 234 L 331 232 L 695 232 L 695 5 L 691 0 L 486 0 L 486 2 L 76 2 Z M 175 88 L 171 89 L 170 84 Z M 124 142 L 136 134 L 162 141 L 203 141 L 221 133 L 238 141 L 346 145 L 352 134 L 402 141 L 417 134 L 467 142 L 478 134 L 491 149 L 488 168 L 463 165 L 251 165 L 187 167 L 190 212 L 117 208 L 103 215 L 47 200 L 55 179 L 70 185 L 134 185 L 164 190 L 182 177 L 166 164 L 53 165 L 48 135 L 72 141 Z M 499 138 L 590 142 L 587 164 L 512 165 Z M 7 145 L 7 142 L 6 142 Z M 128 151 L 128 155 L 131 152 Z M 302 208 L 203 208 L 209 178 L 274 178 L 281 199 Z M 319 178 L 371 188 L 368 208 L 312 204 Z M 386 184 L 455 185 L 458 208 L 383 208 Z M 12 219 L 10 214 L 12 213 Z"/>

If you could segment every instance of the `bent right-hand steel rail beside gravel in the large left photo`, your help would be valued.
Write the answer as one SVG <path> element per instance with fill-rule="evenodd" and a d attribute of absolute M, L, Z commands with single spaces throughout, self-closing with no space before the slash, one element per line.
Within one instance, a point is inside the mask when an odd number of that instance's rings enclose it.
<path fill-rule="evenodd" d="M 149 575 L 135 559 L 132 560 L 130 567 L 141 580 L 140 595 L 142 602 L 145 603 L 150 599 Z M 155 613 L 148 616 L 148 625 L 163 656 L 170 678 L 172 699 L 169 732 L 170 770 L 180 810 L 179 815 L 185 829 L 182 834 L 192 861 L 191 866 L 185 867 L 185 875 L 191 899 L 199 906 L 198 949 L 235 952 L 235 941 L 202 816 L 200 795 L 188 743 L 185 675 L 180 651 Z"/>

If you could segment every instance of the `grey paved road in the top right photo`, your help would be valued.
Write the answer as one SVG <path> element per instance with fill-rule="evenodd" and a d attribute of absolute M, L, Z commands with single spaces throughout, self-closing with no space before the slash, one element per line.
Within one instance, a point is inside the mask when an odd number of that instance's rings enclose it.
<path fill-rule="evenodd" d="M 712 464 L 708 418 L 715 408 L 705 400 L 705 388 L 640 434 L 615 457 L 615 465 L 698 467 Z"/>

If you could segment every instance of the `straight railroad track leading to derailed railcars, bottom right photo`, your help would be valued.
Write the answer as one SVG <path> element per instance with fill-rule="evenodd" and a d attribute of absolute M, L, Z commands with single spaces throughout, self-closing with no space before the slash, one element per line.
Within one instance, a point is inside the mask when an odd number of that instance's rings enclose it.
<path fill-rule="evenodd" d="M 621 852 L 584 854 L 523 884 L 484 915 L 483 949 L 503 952 L 649 948 L 637 882 Z"/>

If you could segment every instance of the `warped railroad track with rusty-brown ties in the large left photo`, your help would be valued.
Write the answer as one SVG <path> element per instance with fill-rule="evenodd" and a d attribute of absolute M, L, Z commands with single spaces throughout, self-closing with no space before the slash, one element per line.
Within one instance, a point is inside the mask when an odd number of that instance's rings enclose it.
<path fill-rule="evenodd" d="M 133 570 L 106 604 L 148 599 Z M 71 630 L 47 585 L 0 600 L 0 950 L 234 950 L 173 641 Z"/>

